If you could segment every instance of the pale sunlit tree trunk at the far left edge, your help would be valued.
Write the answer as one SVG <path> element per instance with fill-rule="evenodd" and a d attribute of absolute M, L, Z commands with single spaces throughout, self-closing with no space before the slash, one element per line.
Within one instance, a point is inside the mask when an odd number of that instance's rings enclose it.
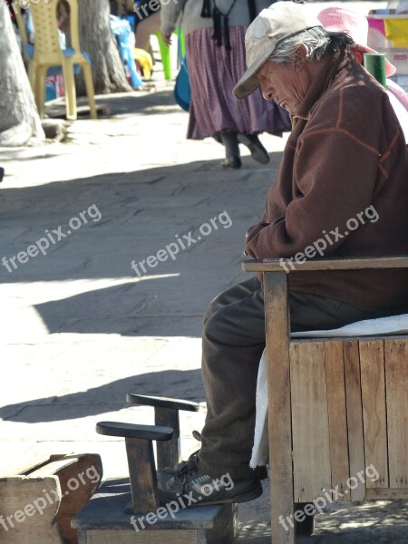
<path fill-rule="evenodd" d="M 0 145 L 20 146 L 45 140 L 15 30 L 0 0 Z"/>

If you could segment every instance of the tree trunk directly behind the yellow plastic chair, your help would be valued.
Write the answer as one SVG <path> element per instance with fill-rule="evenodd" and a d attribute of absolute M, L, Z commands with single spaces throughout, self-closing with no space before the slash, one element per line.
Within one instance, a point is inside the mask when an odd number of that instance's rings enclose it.
<path fill-rule="evenodd" d="M 131 91 L 109 23 L 109 0 L 79 0 L 81 49 L 92 56 L 95 93 Z M 78 94 L 84 94 L 79 78 Z"/>

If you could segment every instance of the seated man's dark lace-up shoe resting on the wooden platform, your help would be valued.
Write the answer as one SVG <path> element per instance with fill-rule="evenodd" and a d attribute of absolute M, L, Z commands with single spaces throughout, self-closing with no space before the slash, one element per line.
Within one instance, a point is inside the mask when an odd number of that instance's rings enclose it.
<path fill-rule="evenodd" d="M 228 473 L 213 478 L 199 469 L 198 452 L 183 461 L 177 469 L 157 472 L 160 503 L 184 500 L 185 506 L 246 502 L 262 495 L 262 484 L 255 476 L 233 481 Z"/>

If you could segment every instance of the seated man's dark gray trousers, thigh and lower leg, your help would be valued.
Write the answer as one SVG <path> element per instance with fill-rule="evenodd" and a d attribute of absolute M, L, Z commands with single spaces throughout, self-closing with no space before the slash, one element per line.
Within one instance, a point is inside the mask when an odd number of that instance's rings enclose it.
<path fill-rule="evenodd" d="M 289 293 L 291 330 L 331 329 L 362 319 L 391 315 L 392 308 Z M 204 316 L 202 376 L 207 419 L 201 432 L 199 464 L 213 477 L 253 476 L 248 466 L 255 429 L 257 369 L 265 348 L 264 297 L 257 277 L 217 296 Z"/>

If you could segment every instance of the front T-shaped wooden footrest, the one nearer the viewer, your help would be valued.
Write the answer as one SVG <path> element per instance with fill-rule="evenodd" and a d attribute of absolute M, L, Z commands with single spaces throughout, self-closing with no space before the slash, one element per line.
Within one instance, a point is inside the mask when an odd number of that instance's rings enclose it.
<path fill-rule="evenodd" d="M 170 427 L 135 425 L 132 423 L 100 422 L 96 432 L 125 439 L 131 477 L 131 510 L 146 514 L 159 508 L 156 466 L 152 441 L 168 441 Z"/>

